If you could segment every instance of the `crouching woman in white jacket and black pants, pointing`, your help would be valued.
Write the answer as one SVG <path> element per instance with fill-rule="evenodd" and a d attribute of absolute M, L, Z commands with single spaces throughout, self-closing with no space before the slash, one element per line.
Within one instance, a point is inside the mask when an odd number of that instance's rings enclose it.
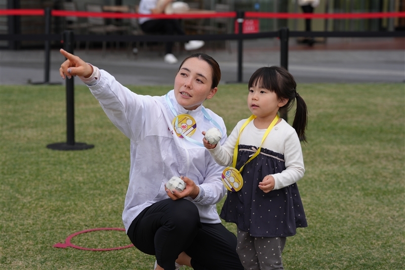
<path fill-rule="evenodd" d="M 78 75 L 89 86 L 112 123 L 131 140 L 131 169 L 123 221 L 139 250 L 156 256 L 155 269 L 179 265 L 194 269 L 243 269 L 236 237 L 222 224 L 215 204 L 225 194 L 223 167 L 201 143 L 202 131 L 222 118 L 201 104 L 218 90 L 221 71 L 206 54 L 193 54 L 180 65 L 174 90 L 165 96 L 137 95 L 113 76 L 61 50 L 63 79 Z M 182 192 L 167 181 L 181 176 Z"/>

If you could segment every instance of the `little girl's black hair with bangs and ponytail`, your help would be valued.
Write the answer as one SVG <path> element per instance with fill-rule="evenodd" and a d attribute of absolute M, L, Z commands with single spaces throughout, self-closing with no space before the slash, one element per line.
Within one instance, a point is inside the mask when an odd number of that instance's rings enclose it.
<path fill-rule="evenodd" d="M 297 100 L 297 108 L 293 122 L 293 128 L 300 140 L 306 141 L 305 131 L 308 125 L 308 110 L 304 99 L 297 93 L 297 84 L 293 75 L 284 67 L 270 66 L 256 70 L 250 80 L 249 89 L 260 84 L 260 88 L 268 89 L 276 93 L 279 99 L 286 98 L 286 105 L 280 107 L 281 111 L 289 111 Z"/>

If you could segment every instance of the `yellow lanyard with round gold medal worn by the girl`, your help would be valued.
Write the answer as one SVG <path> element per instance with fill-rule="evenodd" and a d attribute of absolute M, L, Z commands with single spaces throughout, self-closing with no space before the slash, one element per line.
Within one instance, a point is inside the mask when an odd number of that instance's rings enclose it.
<path fill-rule="evenodd" d="M 244 182 L 243 182 L 243 178 L 242 178 L 242 175 L 240 174 L 240 172 L 243 170 L 243 168 L 245 167 L 246 164 L 248 164 L 250 161 L 252 161 L 254 158 L 256 158 L 259 155 L 264 139 L 266 139 L 267 135 L 270 133 L 271 129 L 275 126 L 275 124 L 277 123 L 277 121 L 279 119 L 278 115 L 276 115 L 275 118 L 273 119 L 273 121 L 271 122 L 270 126 L 267 128 L 266 132 L 264 133 L 259 149 L 257 149 L 257 151 L 254 153 L 254 155 L 242 167 L 240 167 L 239 170 L 237 170 L 236 169 L 236 160 L 237 160 L 237 151 L 238 151 L 240 134 L 242 133 L 242 130 L 244 130 L 245 127 L 255 118 L 256 118 L 256 115 L 252 114 L 251 117 L 248 118 L 248 120 L 246 120 L 246 122 L 240 128 L 240 131 L 239 131 L 239 134 L 238 134 L 237 140 L 236 140 L 236 145 L 233 149 L 232 167 L 226 167 L 225 170 L 222 172 L 222 182 L 225 185 L 226 189 L 228 189 L 229 191 L 235 192 L 235 191 L 239 191 L 242 188 Z"/>

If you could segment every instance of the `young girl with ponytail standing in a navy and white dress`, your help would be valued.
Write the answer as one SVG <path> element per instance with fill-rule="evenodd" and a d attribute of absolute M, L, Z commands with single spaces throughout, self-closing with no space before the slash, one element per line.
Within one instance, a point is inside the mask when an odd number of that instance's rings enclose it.
<path fill-rule="evenodd" d="M 278 117 L 297 101 L 293 127 Z M 262 67 L 249 80 L 248 106 L 223 145 L 203 139 L 222 173 L 228 195 L 220 217 L 237 225 L 237 253 L 245 269 L 284 269 L 286 237 L 306 227 L 297 181 L 304 175 L 307 107 L 284 68 Z M 205 132 L 203 132 L 205 134 Z M 240 172 L 240 173 L 239 173 Z"/>

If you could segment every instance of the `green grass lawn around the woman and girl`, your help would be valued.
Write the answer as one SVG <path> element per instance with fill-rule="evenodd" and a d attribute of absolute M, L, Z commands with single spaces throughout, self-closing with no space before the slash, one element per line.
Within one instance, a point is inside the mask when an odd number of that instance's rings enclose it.
<path fill-rule="evenodd" d="M 161 95 L 172 87 L 131 89 Z M 306 173 L 298 184 L 309 226 L 288 238 L 285 268 L 403 269 L 404 85 L 301 84 L 298 90 L 309 108 Z M 228 134 L 250 115 L 246 96 L 246 85 L 221 85 L 205 103 L 222 115 Z M 66 142 L 64 86 L 1 86 L 0 99 L 0 268 L 151 270 L 154 257 L 134 247 L 53 247 L 81 230 L 123 227 L 129 139 L 87 88 L 75 89 L 75 141 L 94 144 L 89 150 L 46 147 Z M 235 232 L 233 224 L 225 225 Z M 130 244 L 120 231 L 82 234 L 71 242 L 88 248 Z"/>

